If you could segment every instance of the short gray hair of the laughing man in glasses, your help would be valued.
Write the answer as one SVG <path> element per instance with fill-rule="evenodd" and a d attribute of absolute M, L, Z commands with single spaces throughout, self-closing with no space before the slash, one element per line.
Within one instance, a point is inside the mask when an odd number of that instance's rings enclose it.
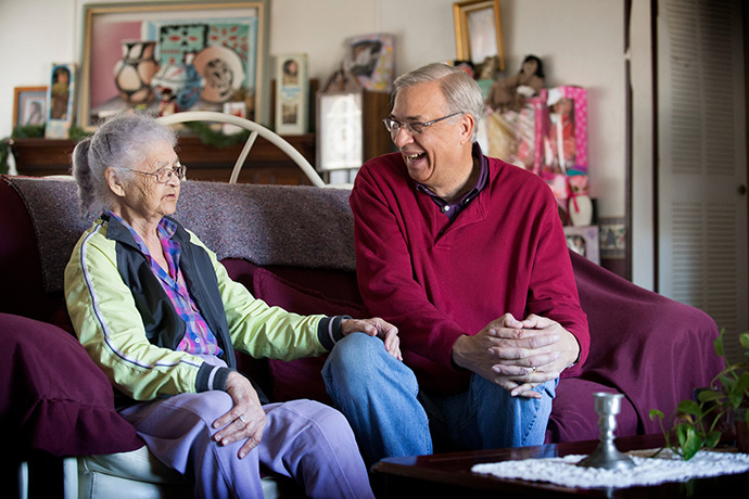
<path fill-rule="evenodd" d="M 475 126 L 471 141 L 475 142 L 479 121 L 484 114 L 484 99 L 479 84 L 465 71 L 443 63 L 432 63 L 401 75 L 393 82 L 391 108 L 395 104 L 395 97 L 405 88 L 418 84 L 440 81 L 440 88 L 447 101 L 448 112 L 468 113 L 473 116 Z"/>

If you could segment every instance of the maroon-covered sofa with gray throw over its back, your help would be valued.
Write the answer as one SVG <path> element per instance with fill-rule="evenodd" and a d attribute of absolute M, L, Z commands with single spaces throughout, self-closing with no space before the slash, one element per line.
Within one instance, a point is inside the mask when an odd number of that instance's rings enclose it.
<path fill-rule="evenodd" d="M 187 181 L 176 217 L 257 297 L 301 314 L 366 315 L 356 286 L 347 192 Z M 0 179 L 0 431 L 22 458 L 81 456 L 141 446 L 114 412 L 107 380 L 71 336 L 62 269 L 90 220 L 76 217 L 68 180 Z M 592 347 L 582 374 L 560 381 L 549 442 L 598 437 L 593 393 L 624 395 L 619 436 L 658 433 L 669 414 L 720 370 L 714 321 L 637 287 L 572 253 Z M 241 368 L 271 400 L 328 401 L 323 358 Z"/>

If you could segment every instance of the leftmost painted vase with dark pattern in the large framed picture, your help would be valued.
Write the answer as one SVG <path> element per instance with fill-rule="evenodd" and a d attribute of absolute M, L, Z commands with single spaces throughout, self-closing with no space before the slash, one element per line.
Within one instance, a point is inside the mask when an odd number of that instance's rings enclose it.
<path fill-rule="evenodd" d="M 155 51 L 155 41 L 123 40 L 123 59 L 114 66 L 114 84 L 128 104 L 143 104 L 153 98 L 151 79 L 158 71 Z"/>

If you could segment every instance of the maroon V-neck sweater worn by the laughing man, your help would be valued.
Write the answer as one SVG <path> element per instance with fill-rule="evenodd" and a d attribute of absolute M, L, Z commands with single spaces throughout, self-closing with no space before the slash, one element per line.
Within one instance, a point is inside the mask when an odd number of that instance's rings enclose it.
<path fill-rule="evenodd" d="M 397 325 L 404 361 L 422 388 L 455 394 L 469 372 L 453 344 L 510 312 L 548 317 L 580 343 L 591 337 L 551 190 L 537 176 L 488 158 L 488 184 L 449 223 L 415 189 L 399 153 L 367 162 L 351 195 L 357 278 L 369 312 Z"/>

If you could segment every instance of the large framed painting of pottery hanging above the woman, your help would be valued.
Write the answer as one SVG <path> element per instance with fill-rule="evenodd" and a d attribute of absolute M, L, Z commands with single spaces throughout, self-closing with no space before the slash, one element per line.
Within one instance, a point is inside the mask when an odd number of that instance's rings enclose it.
<path fill-rule="evenodd" d="M 128 108 L 221 111 L 244 101 L 269 116 L 268 0 L 84 5 L 78 121 Z"/>

